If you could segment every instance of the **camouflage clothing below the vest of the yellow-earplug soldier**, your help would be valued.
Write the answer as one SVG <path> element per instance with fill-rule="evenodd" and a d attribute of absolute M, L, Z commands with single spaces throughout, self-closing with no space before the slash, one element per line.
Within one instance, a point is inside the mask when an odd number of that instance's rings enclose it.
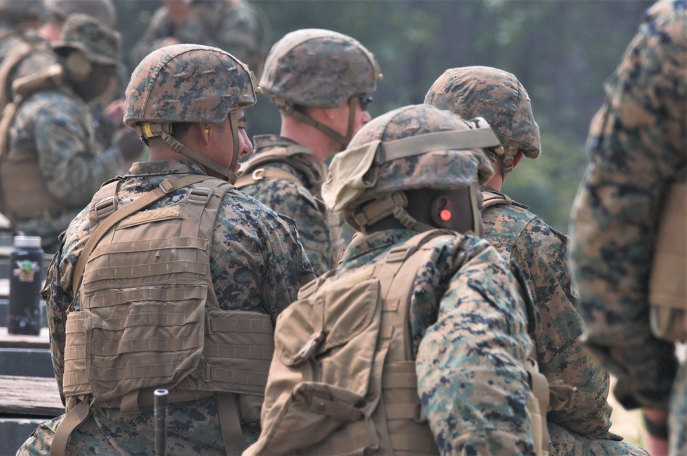
<path fill-rule="evenodd" d="M 212 401 L 214 402 L 214 401 Z M 224 442 L 212 402 L 199 400 L 195 407 L 170 409 L 167 417 L 167 455 L 222 455 Z M 65 415 L 38 426 L 17 451 L 17 456 L 46 456 L 57 426 Z M 71 434 L 68 455 L 153 455 L 153 411 L 121 415 L 114 409 L 98 409 Z M 244 444 L 255 442 L 260 429 L 243 429 Z"/>

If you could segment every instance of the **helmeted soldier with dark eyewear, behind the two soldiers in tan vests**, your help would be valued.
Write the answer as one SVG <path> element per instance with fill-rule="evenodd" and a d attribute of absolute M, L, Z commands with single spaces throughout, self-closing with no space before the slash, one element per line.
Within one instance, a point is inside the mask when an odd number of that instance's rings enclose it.
<path fill-rule="evenodd" d="M 280 135 L 254 138 L 237 186 L 295 220 L 313 264 L 322 274 L 343 251 L 341 220 L 319 196 L 324 161 L 367 122 L 367 106 L 380 77 L 374 56 L 358 41 L 319 29 L 286 34 L 267 56 L 262 93 L 282 116 Z"/>

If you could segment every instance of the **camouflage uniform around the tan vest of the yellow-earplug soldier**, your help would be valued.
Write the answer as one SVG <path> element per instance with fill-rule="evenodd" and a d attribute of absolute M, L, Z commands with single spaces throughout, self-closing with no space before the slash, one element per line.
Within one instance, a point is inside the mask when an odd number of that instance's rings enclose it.
<path fill-rule="evenodd" d="M 157 187 L 164 179 L 185 174 L 204 174 L 188 161 L 134 163 L 117 192 L 121 204 Z M 180 201 L 182 189 L 150 209 Z M 49 271 L 47 300 L 50 351 L 60 394 L 64 372 L 65 321 L 73 301 L 71 275 L 78 255 L 88 238 L 88 208 L 69 225 L 63 249 Z M 218 302 L 227 310 L 254 310 L 276 319 L 278 313 L 297 297 L 298 288 L 313 277 L 298 242 L 295 229 L 274 212 L 238 190 L 224 197 L 216 220 L 210 262 Z M 75 311 L 80 309 L 76 300 Z M 168 455 L 225 454 L 218 426 L 214 397 L 169 404 Z M 64 416 L 64 415 L 63 415 Z M 54 429 L 62 417 L 49 421 L 34 433 L 21 455 L 44 455 Z M 153 411 L 135 416 L 117 409 L 93 409 L 95 420 L 78 427 L 70 442 L 76 454 L 117 453 L 148 455 L 153 448 Z M 97 424 L 96 424 L 97 423 Z M 260 429 L 245 430 L 247 444 L 256 440 Z M 69 447 L 71 450 L 71 446 Z M 179 453 L 173 453 L 176 448 Z"/>

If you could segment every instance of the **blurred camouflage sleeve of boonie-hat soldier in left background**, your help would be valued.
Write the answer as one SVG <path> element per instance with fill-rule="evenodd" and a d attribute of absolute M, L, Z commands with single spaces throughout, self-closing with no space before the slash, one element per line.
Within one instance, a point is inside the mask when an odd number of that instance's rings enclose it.
<path fill-rule="evenodd" d="M 22 108 L 12 128 L 33 119 L 38 166 L 50 192 L 71 207 L 87 205 L 100 185 L 122 168 L 119 152 L 94 150 L 97 146 L 85 129 L 91 122 L 88 112 L 66 96 L 27 102 Z"/>

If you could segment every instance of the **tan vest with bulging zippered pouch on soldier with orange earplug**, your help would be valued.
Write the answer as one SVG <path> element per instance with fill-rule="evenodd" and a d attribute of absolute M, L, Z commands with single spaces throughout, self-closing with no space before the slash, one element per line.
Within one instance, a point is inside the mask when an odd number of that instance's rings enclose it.
<path fill-rule="evenodd" d="M 449 236 L 420 233 L 384 261 L 300 290 L 278 318 L 262 433 L 244 455 L 439 454 L 418 398 L 409 304 L 420 266 Z"/>

